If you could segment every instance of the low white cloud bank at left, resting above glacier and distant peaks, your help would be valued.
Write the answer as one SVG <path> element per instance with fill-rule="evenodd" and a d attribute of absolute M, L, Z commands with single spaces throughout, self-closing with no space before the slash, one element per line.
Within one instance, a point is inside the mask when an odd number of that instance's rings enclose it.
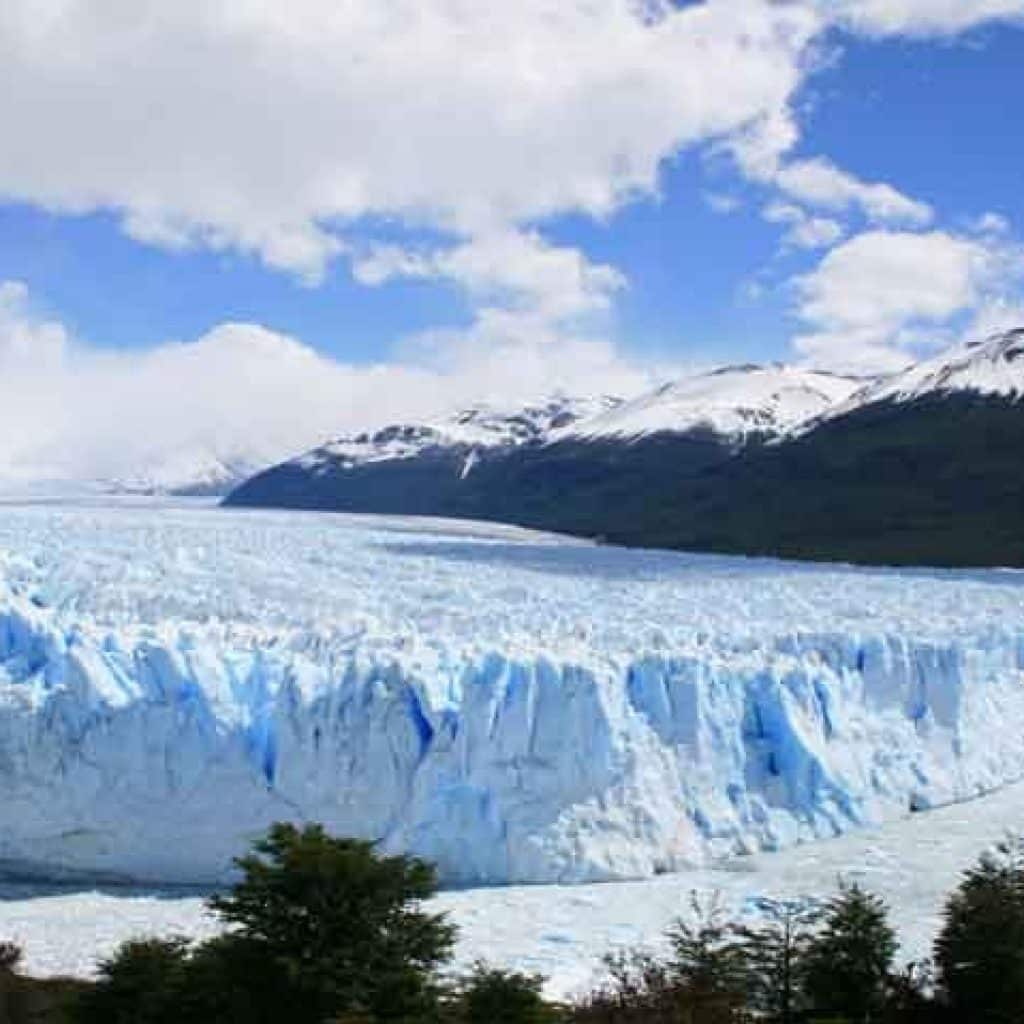
<path fill-rule="evenodd" d="M 503 322 L 503 317 L 506 319 Z M 420 339 L 400 361 L 328 358 L 256 325 L 116 352 L 33 314 L 24 286 L 0 283 L 0 479 L 161 475 L 209 458 L 269 463 L 346 429 L 516 401 L 557 388 L 632 392 L 646 375 L 605 342 L 551 344 L 516 311 L 469 333 Z"/>

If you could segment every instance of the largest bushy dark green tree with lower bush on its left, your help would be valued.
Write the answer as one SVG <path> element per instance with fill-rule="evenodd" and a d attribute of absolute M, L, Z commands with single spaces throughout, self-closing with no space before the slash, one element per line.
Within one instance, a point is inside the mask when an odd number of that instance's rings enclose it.
<path fill-rule="evenodd" d="M 273 825 L 211 909 L 229 926 L 189 949 L 127 943 L 102 966 L 79 1024 L 428 1022 L 454 929 L 420 908 L 433 868 L 323 828 Z"/>

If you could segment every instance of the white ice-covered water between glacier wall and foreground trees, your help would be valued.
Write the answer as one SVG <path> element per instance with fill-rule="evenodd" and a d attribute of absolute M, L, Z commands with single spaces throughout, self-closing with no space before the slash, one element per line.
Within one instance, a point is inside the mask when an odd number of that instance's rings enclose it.
<path fill-rule="evenodd" d="M 885 897 L 901 961 L 929 954 L 945 896 L 959 873 L 1007 830 L 1024 830 L 1024 785 L 838 840 L 647 882 L 509 886 L 442 893 L 431 908 L 459 926 L 458 967 L 485 959 L 549 979 L 552 996 L 588 990 L 600 958 L 621 948 L 659 949 L 693 891 L 718 892 L 730 910 L 756 916 L 766 897 L 826 897 L 837 880 Z M 26 949 L 38 975 L 89 976 L 119 943 L 141 935 L 207 938 L 216 925 L 199 895 L 0 887 L 0 939 Z"/>

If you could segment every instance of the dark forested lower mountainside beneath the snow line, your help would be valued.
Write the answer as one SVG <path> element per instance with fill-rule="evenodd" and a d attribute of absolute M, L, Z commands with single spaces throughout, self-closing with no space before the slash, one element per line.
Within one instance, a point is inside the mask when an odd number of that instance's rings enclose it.
<path fill-rule="evenodd" d="M 564 441 L 259 474 L 236 505 L 497 519 L 616 544 L 867 563 L 1024 565 L 1024 406 L 880 402 L 738 453 L 711 434 Z"/>

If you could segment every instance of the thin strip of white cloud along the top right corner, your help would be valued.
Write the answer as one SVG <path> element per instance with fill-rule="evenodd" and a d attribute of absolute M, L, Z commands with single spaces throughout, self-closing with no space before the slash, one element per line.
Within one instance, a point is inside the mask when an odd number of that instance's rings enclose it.
<path fill-rule="evenodd" d="M 1024 0 L 819 0 L 829 17 L 869 35 L 953 35 L 1002 18 L 1024 18 Z"/>

